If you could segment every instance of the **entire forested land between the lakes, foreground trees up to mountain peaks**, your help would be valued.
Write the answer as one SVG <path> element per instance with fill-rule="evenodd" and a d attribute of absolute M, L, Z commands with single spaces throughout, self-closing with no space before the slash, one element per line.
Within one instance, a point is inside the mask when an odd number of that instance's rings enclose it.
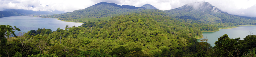
<path fill-rule="evenodd" d="M 152 7 L 151 7 L 152 8 Z M 255 20 L 230 15 L 207 2 L 158 10 L 101 2 L 86 9 L 42 17 L 84 22 L 65 29 L 30 30 L 8 38 L 12 26 L 1 25 L 1 56 L 28 57 L 252 57 L 256 36 L 220 36 L 212 47 L 202 31 L 254 25 Z M 7 37 L 7 38 L 5 38 Z M 2 48 L 3 47 L 3 48 Z M 25 51 L 26 50 L 26 51 Z"/>

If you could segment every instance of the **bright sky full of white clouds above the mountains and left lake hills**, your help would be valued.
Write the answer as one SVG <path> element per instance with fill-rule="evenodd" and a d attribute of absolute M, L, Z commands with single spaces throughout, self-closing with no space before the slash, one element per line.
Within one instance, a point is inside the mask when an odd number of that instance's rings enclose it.
<path fill-rule="evenodd" d="M 208 2 L 228 14 L 256 17 L 256 0 L 0 0 L 0 11 L 4 9 L 25 9 L 33 11 L 73 12 L 100 2 L 141 7 L 151 4 L 159 10 L 170 10 L 187 3 Z"/>

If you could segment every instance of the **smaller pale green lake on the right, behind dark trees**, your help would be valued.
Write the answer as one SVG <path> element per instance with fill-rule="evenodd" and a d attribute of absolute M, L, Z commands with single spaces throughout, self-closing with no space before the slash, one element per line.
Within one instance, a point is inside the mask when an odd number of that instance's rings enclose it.
<path fill-rule="evenodd" d="M 234 39 L 240 37 L 241 40 L 244 40 L 244 37 L 250 35 L 250 31 L 254 34 L 256 32 L 256 26 L 239 26 L 232 29 L 221 29 L 220 31 L 215 32 L 203 32 L 203 36 L 204 38 L 207 37 L 206 39 L 208 39 L 208 43 L 213 47 L 215 46 L 215 41 L 218 41 L 218 38 L 224 34 L 227 34 L 229 38 Z M 197 41 L 200 42 L 200 40 L 204 38 L 197 39 Z"/>

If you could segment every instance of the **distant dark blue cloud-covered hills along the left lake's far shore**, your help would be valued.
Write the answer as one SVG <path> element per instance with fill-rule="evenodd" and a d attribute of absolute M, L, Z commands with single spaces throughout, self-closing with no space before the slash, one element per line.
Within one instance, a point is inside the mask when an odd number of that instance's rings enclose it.
<path fill-rule="evenodd" d="M 64 13 L 62 11 L 32 11 L 32 10 L 24 10 L 24 9 L 5 9 L 0 11 L 1 17 L 9 17 L 9 16 L 26 16 L 26 15 L 51 15 L 51 14 L 61 14 Z"/>

